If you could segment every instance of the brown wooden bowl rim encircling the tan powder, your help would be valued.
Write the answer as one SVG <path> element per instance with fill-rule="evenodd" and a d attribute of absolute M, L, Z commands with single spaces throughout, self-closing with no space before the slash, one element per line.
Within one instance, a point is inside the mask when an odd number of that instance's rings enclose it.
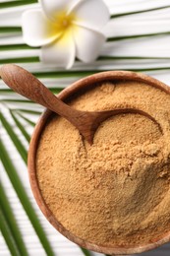
<path fill-rule="evenodd" d="M 76 92 L 78 92 L 81 89 L 86 89 L 89 86 L 97 83 L 97 82 L 104 82 L 104 81 L 138 81 L 143 82 L 145 84 L 148 84 L 150 86 L 156 87 L 158 89 L 163 90 L 167 94 L 170 95 L 170 88 L 163 83 L 142 75 L 137 74 L 134 72 L 127 72 L 127 71 L 108 71 L 108 72 L 102 72 L 97 73 L 92 76 L 86 77 L 84 79 L 79 80 L 78 82 L 74 83 L 70 87 L 64 89 L 60 94 L 59 97 L 62 100 L 67 99 L 70 96 L 73 96 Z M 64 236 L 69 238 L 71 241 L 79 244 L 82 247 L 85 247 L 89 250 L 93 250 L 96 252 L 101 252 L 105 254 L 134 254 L 134 253 L 141 253 L 150 249 L 154 249 L 164 243 L 167 243 L 170 241 L 170 230 L 166 232 L 159 240 L 156 240 L 153 243 L 140 245 L 137 247 L 106 247 L 106 246 L 98 246 L 96 244 L 87 242 L 83 239 L 81 239 L 78 236 L 75 236 L 73 233 L 71 233 L 69 230 L 67 230 L 62 224 L 60 224 L 55 217 L 53 216 L 52 212 L 47 207 L 46 203 L 44 202 L 44 199 L 41 195 L 39 186 L 38 186 L 38 180 L 36 177 L 36 150 L 38 141 L 41 135 L 41 132 L 43 128 L 45 127 L 45 124 L 47 120 L 51 117 L 52 111 L 46 109 L 42 116 L 40 117 L 38 123 L 35 126 L 33 135 L 31 137 L 30 145 L 29 145 L 29 151 L 28 151 L 28 175 L 29 175 L 29 181 L 30 186 L 32 189 L 32 193 L 34 195 L 34 198 L 36 200 L 36 203 L 38 204 L 41 212 L 46 217 L 48 222 L 52 224 L 60 233 L 62 233 Z"/>

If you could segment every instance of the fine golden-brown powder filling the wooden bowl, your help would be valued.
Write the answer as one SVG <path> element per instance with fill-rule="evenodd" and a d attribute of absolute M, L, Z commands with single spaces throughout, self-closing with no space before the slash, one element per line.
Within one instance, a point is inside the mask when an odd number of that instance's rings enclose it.
<path fill-rule="evenodd" d="M 138 82 L 97 85 L 70 104 L 82 110 L 134 106 L 148 112 L 103 122 L 89 146 L 55 115 L 37 151 L 42 196 L 73 234 L 98 245 L 143 245 L 170 230 L 170 96 Z"/>

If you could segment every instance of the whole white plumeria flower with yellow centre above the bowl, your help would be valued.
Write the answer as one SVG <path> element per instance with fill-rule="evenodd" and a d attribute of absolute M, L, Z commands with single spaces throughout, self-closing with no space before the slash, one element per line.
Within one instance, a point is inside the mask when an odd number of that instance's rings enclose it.
<path fill-rule="evenodd" d="M 85 63 L 96 59 L 108 20 L 102 0 L 41 0 L 40 8 L 23 14 L 24 40 L 41 46 L 42 62 L 71 68 L 76 57 Z"/>

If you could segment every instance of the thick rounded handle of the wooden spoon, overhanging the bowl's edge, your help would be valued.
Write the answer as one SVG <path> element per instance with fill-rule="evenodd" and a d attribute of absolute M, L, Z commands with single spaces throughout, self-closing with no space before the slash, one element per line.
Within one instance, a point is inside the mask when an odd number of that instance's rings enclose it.
<path fill-rule="evenodd" d="M 16 93 L 26 96 L 50 110 L 57 112 L 66 118 L 73 110 L 57 96 L 54 96 L 39 80 L 27 70 L 14 65 L 6 64 L 0 69 L 2 80 Z M 76 111 L 76 110 L 75 110 Z M 69 119 L 69 118 L 68 118 Z"/>

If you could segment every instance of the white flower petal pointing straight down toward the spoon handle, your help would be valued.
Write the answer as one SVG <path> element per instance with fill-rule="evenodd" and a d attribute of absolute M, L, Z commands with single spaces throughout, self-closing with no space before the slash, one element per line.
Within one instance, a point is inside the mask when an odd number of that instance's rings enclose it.
<path fill-rule="evenodd" d="M 76 56 L 73 32 L 67 31 L 53 43 L 42 46 L 40 59 L 56 67 L 71 68 Z"/>

